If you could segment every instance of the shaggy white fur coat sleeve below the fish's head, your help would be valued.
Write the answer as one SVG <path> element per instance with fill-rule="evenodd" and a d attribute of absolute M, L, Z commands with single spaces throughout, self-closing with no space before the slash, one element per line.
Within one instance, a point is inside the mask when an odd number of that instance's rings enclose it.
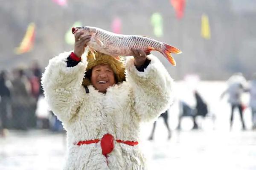
<path fill-rule="evenodd" d="M 85 94 L 81 83 L 87 61 L 67 67 L 66 61 L 70 53 L 64 52 L 50 59 L 41 81 L 49 108 L 62 122 L 72 118 L 79 107 L 81 95 Z"/>

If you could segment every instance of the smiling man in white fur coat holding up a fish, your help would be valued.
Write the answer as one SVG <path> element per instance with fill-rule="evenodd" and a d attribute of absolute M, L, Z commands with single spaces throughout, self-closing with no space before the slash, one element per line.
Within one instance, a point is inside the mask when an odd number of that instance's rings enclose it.
<path fill-rule="evenodd" d="M 67 131 L 64 170 L 145 170 L 140 123 L 172 104 L 173 80 L 153 55 L 134 49 L 126 64 L 86 50 L 78 31 L 73 52 L 49 60 L 42 85 Z"/>

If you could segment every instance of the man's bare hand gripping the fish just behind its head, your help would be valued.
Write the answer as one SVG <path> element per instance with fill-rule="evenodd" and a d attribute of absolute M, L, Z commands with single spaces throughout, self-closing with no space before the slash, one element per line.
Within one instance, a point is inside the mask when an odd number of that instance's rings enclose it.
<path fill-rule="evenodd" d="M 90 41 L 90 38 L 91 35 L 86 35 L 83 31 L 75 33 L 74 53 L 77 57 L 81 57 L 84 54 L 84 48 L 87 46 L 86 44 Z"/>

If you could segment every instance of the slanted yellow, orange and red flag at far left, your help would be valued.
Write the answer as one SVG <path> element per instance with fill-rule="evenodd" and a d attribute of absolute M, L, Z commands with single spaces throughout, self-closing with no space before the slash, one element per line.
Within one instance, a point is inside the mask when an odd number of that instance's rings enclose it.
<path fill-rule="evenodd" d="M 30 23 L 20 46 L 15 48 L 15 54 L 23 54 L 32 50 L 35 41 L 35 23 Z"/>

